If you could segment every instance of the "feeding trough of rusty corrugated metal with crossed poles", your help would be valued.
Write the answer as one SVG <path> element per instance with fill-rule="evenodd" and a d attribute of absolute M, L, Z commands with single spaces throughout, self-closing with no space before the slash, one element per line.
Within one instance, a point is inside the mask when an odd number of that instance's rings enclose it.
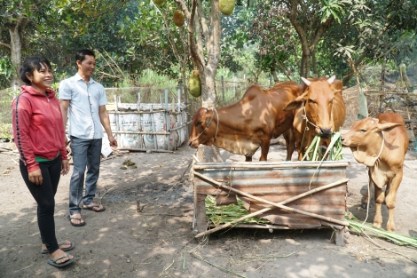
<path fill-rule="evenodd" d="M 342 232 L 348 226 L 344 220 L 348 165 L 346 161 L 194 163 L 195 237 L 231 226 L 270 231 L 333 227 L 336 244 L 342 245 Z M 214 227 L 206 219 L 207 195 L 216 196 L 217 205 L 236 203 L 238 195 L 250 217 L 266 218 L 271 225 L 241 224 L 240 218 Z"/>

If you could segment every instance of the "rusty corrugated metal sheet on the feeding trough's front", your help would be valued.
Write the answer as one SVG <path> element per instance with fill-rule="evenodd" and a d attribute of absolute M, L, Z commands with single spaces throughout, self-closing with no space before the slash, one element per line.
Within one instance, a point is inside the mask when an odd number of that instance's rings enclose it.
<path fill-rule="evenodd" d="M 268 201 L 279 203 L 311 189 L 346 179 L 346 161 L 337 162 L 282 162 L 282 163 L 196 163 L 194 171 Z M 198 195 L 219 195 L 217 203 L 231 203 L 233 195 L 217 189 L 203 179 L 194 177 L 194 190 Z M 286 205 L 322 216 L 344 220 L 346 209 L 346 183 L 318 193 L 304 196 Z M 250 211 L 264 209 L 269 204 L 240 196 Z M 260 216 L 273 224 L 293 228 L 311 228 L 329 225 L 326 221 L 287 210 L 269 210 Z"/>

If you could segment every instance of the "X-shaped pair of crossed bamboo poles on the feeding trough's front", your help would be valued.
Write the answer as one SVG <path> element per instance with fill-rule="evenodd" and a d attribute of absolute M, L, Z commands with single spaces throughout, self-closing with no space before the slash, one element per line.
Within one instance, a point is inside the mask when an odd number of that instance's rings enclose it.
<path fill-rule="evenodd" d="M 247 196 L 247 197 L 249 197 L 249 198 L 252 198 L 252 199 L 254 199 L 254 200 L 257 200 L 257 201 L 260 201 L 260 202 L 263 202 L 263 203 L 268 203 L 268 204 L 271 204 L 271 206 L 270 206 L 270 207 L 267 207 L 267 208 L 265 208 L 265 209 L 263 209 L 263 210 L 258 210 L 258 211 L 256 211 L 256 212 L 250 213 L 250 214 L 248 214 L 247 216 L 244 216 L 244 217 L 242 217 L 242 218 L 235 219 L 235 220 L 233 220 L 232 222 L 225 223 L 224 225 L 221 225 L 221 226 L 216 226 L 216 228 L 211 229 L 211 230 L 209 230 L 209 231 L 205 231 L 205 232 L 203 232 L 203 233 L 196 234 L 196 235 L 195 235 L 195 238 L 199 238 L 199 237 L 201 237 L 201 236 L 203 236 L 203 235 L 207 235 L 207 234 L 212 234 L 212 233 L 214 233 L 214 232 L 216 232 L 216 231 L 219 231 L 219 230 L 222 230 L 222 229 L 224 229 L 224 228 L 230 227 L 230 226 L 232 226 L 232 225 L 233 225 L 233 224 L 235 224 L 235 223 L 239 223 L 240 221 L 243 221 L 243 220 L 245 220 L 245 219 L 247 219 L 247 218 L 251 218 L 251 217 L 255 217 L 256 215 L 263 214 L 264 212 L 266 212 L 266 211 L 268 211 L 268 210 L 272 210 L 272 209 L 274 209 L 274 208 L 276 208 L 276 207 L 278 207 L 279 209 L 282 209 L 282 210 L 289 210 L 289 211 L 297 212 L 297 213 L 300 213 L 300 214 L 308 215 L 308 216 L 311 216 L 311 217 L 313 217 L 313 218 L 320 218 L 320 219 L 323 219 L 323 220 L 327 220 L 328 222 L 336 223 L 336 224 L 338 224 L 338 225 L 342 225 L 342 226 L 349 226 L 349 223 L 347 223 L 347 222 L 345 222 L 345 221 L 340 221 L 340 220 L 337 220 L 337 219 L 334 219 L 334 218 L 324 217 L 324 216 L 321 216 L 321 215 L 318 215 L 318 214 L 314 214 L 314 213 L 310 213 L 310 212 L 306 212 L 306 211 L 303 211 L 303 210 L 296 210 L 296 209 L 289 208 L 289 207 L 287 207 L 287 206 L 285 206 L 285 205 L 284 205 L 284 204 L 286 204 L 286 203 L 290 203 L 290 202 L 293 202 L 293 201 L 295 201 L 295 200 L 297 200 L 297 199 L 303 198 L 303 197 L 304 197 L 304 196 L 306 196 L 306 195 L 311 195 L 311 194 L 313 194 L 313 193 L 316 193 L 316 192 L 319 192 L 319 191 L 325 190 L 325 189 L 327 189 L 327 188 L 330 188 L 330 187 L 336 187 L 336 186 L 339 186 L 339 185 L 341 185 L 341 184 L 343 184 L 343 183 L 347 183 L 347 182 L 349 181 L 349 179 L 341 179 L 341 180 L 336 181 L 336 182 L 334 182 L 334 183 L 328 184 L 327 186 L 318 187 L 318 188 L 315 188 L 315 189 L 309 190 L 309 191 L 307 191 L 307 192 L 304 192 L 304 193 L 303 193 L 303 194 L 301 194 L 301 195 L 296 195 L 296 196 L 294 196 L 294 197 L 292 197 L 292 198 L 287 199 L 286 201 L 279 202 L 279 203 L 273 203 L 273 202 L 270 202 L 270 201 L 264 200 L 263 198 L 259 198 L 259 197 L 256 197 L 256 196 L 254 196 L 254 195 L 249 195 L 248 193 L 245 193 L 245 192 L 240 191 L 240 190 L 238 190 L 238 189 L 235 189 L 235 188 L 232 188 L 232 187 L 227 187 L 227 186 L 224 186 L 223 184 L 221 184 L 221 183 L 217 182 L 216 180 L 214 180 L 214 179 L 210 179 L 209 177 L 206 177 L 206 176 L 202 175 L 202 174 L 201 174 L 201 173 L 199 173 L 199 172 L 193 171 L 193 174 L 194 174 L 195 176 L 197 176 L 197 177 L 200 177 L 201 179 L 206 179 L 207 181 L 209 181 L 209 182 L 211 182 L 211 183 L 215 184 L 215 185 L 216 185 L 216 186 L 218 186 L 218 187 L 224 187 L 224 189 L 226 189 L 226 190 L 230 190 L 230 191 L 232 191 L 232 192 L 234 192 L 234 193 L 237 193 L 237 194 L 239 194 L 239 195 Z M 195 190 L 195 189 L 194 189 L 194 190 Z"/>

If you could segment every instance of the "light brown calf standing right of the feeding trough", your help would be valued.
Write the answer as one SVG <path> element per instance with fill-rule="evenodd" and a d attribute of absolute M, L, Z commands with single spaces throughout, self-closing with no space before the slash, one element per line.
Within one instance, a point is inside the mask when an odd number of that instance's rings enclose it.
<path fill-rule="evenodd" d="M 369 188 L 374 183 L 376 212 L 374 226 L 381 228 L 382 203 L 389 211 L 387 230 L 393 232 L 397 190 L 403 179 L 403 164 L 408 148 L 404 119 L 397 113 L 384 113 L 377 118 L 365 118 L 353 124 L 342 136 L 343 146 L 350 147 L 358 163 L 369 171 Z M 385 193 L 382 188 L 387 186 Z M 367 203 L 366 192 L 364 203 Z"/>

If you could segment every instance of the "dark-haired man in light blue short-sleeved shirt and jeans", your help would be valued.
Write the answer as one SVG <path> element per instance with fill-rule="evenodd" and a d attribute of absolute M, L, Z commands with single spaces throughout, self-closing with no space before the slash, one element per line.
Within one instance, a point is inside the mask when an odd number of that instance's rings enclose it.
<path fill-rule="evenodd" d="M 59 83 L 59 105 L 67 125 L 69 117 L 69 136 L 74 170 L 69 184 L 69 215 L 72 226 L 84 226 L 80 203 L 83 210 L 96 212 L 106 210 L 101 204 L 94 203 L 100 168 L 103 125 L 111 147 L 117 147 L 110 129 L 110 120 L 106 110 L 107 98 L 103 85 L 95 82 L 91 75 L 96 68 L 94 52 L 81 50 L 75 54 L 78 72 Z M 85 195 L 83 196 L 84 172 Z"/>

